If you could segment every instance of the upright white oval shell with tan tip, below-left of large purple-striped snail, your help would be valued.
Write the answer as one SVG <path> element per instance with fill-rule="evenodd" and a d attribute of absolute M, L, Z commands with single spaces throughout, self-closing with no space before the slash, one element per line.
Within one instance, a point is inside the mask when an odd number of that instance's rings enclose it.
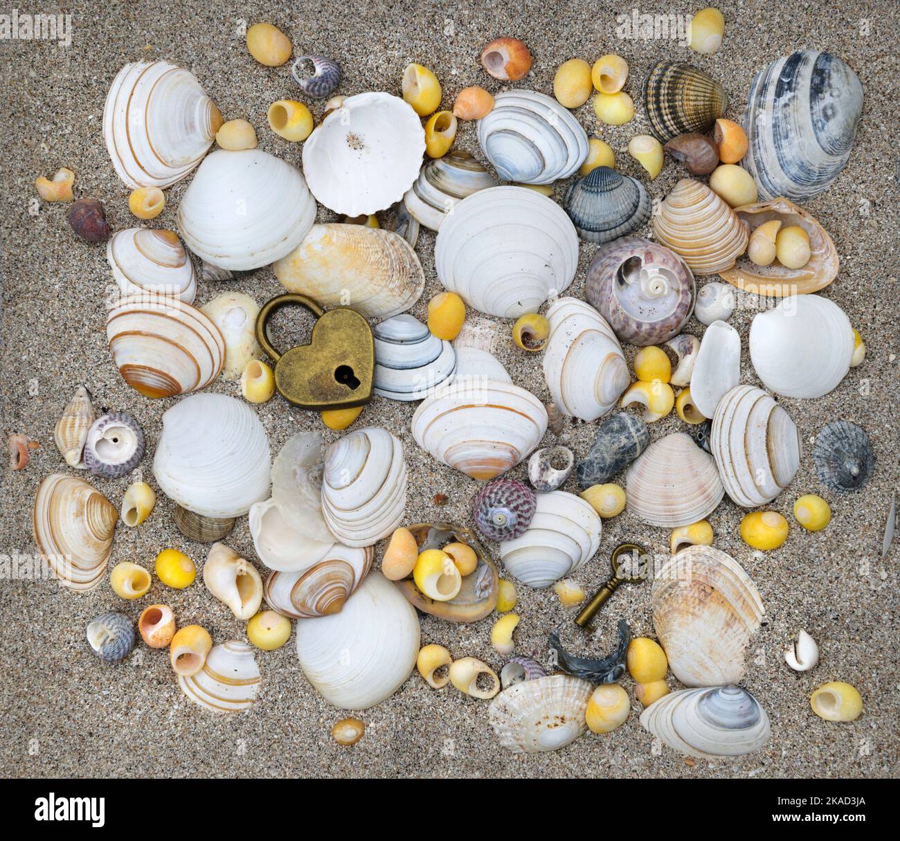
<path fill-rule="evenodd" d="M 631 374 L 622 347 L 599 312 L 584 301 L 560 298 L 547 310 L 544 351 L 547 389 L 563 415 L 597 420 L 616 406 Z"/>

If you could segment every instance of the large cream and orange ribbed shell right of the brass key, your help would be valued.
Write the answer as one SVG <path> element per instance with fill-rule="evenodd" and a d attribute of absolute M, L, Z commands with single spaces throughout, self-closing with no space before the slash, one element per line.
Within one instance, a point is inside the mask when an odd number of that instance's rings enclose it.
<path fill-rule="evenodd" d="M 686 686 L 737 683 L 765 609 L 741 565 L 711 546 L 689 546 L 653 578 L 653 628 Z"/>

